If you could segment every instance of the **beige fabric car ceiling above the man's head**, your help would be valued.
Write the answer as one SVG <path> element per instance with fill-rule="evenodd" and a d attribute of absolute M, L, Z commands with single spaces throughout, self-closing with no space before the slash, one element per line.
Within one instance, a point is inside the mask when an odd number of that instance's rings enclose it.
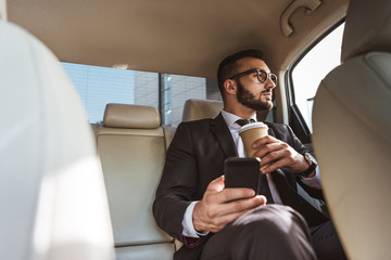
<path fill-rule="evenodd" d="M 292 4 L 319 2 L 289 17 Z M 349 0 L 9 0 L 8 18 L 63 62 L 215 78 L 235 51 L 261 49 L 285 70 L 315 38 L 344 17 Z M 300 4 L 299 4 L 300 5 Z"/>

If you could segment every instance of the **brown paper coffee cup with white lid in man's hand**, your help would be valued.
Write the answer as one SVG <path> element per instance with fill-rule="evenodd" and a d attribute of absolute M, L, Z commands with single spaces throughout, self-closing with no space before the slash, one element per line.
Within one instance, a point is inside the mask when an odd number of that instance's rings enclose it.
<path fill-rule="evenodd" d="M 257 150 L 253 148 L 253 143 L 258 140 L 260 138 L 263 138 L 267 135 L 267 125 L 263 122 L 252 122 L 244 125 L 239 130 L 239 135 L 241 136 L 244 145 L 244 150 L 248 157 L 252 157 Z M 262 161 L 262 158 L 261 158 Z M 268 167 L 269 165 L 265 165 L 261 167 L 261 170 Z"/>

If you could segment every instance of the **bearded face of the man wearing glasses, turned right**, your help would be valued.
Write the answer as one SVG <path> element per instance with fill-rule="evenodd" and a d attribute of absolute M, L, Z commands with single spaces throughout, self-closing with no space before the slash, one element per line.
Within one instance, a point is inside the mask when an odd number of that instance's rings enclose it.
<path fill-rule="evenodd" d="M 262 68 L 270 73 L 267 65 L 258 58 L 244 57 L 238 61 L 239 73 L 252 69 Z M 238 91 L 237 99 L 240 104 L 254 110 L 269 110 L 273 107 L 272 90 L 276 84 L 268 78 L 265 82 L 257 79 L 256 72 L 236 79 Z"/>

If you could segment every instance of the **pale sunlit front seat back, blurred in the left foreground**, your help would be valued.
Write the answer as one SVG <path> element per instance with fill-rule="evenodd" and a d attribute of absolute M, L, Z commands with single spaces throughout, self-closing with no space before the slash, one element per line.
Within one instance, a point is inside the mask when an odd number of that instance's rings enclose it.
<path fill-rule="evenodd" d="M 111 259 L 112 229 L 88 119 L 55 56 L 0 21 L 0 256 Z"/>

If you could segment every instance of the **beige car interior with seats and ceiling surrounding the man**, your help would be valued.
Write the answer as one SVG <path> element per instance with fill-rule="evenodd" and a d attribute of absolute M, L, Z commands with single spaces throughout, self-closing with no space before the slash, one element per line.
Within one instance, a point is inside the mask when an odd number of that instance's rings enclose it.
<path fill-rule="evenodd" d="M 307 99 L 308 122 L 292 70 L 342 23 L 340 65 Z M 330 214 L 349 259 L 389 259 L 389 0 L 0 0 L 2 258 L 173 259 L 182 246 L 151 209 L 177 126 L 137 102 L 108 102 L 90 121 L 61 63 L 213 81 L 220 60 L 253 48 L 278 76 L 275 108 L 257 119 L 289 125 L 313 153 L 327 209 L 301 195 Z M 179 122 L 222 108 L 189 98 Z"/>

